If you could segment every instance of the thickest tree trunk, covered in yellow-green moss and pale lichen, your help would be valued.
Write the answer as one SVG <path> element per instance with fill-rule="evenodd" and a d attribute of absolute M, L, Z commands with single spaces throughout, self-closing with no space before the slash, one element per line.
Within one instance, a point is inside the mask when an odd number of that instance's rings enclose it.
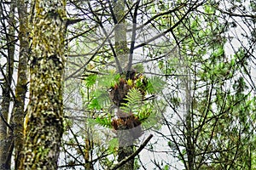
<path fill-rule="evenodd" d="M 30 102 L 19 169 L 56 169 L 63 133 L 66 1 L 34 3 Z"/>

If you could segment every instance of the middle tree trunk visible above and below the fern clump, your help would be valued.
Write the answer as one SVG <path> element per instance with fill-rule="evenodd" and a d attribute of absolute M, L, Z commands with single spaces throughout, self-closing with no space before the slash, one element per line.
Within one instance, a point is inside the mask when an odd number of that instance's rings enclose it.
<path fill-rule="evenodd" d="M 115 38 L 115 50 L 119 58 L 119 61 L 123 67 L 128 63 L 129 48 L 127 48 L 126 40 L 126 24 L 125 19 L 125 0 L 117 0 L 113 3 L 113 12 L 116 18 L 116 29 L 114 30 Z M 125 71 L 125 70 L 124 70 Z M 130 156 L 133 153 L 133 139 L 131 138 L 131 132 L 127 130 L 129 127 L 120 127 L 118 129 L 119 136 L 119 153 L 118 161 L 123 160 L 126 156 Z M 119 167 L 122 170 L 132 170 L 134 159 L 125 163 L 123 167 Z"/>

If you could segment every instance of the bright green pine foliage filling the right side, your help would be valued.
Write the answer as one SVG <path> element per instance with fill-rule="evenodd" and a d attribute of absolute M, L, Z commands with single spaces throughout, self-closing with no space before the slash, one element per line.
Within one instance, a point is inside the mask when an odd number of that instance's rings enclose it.
<path fill-rule="evenodd" d="M 188 162 L 190 156 L 195 161 L 210 162 L 206 163 L 206 169 L 247 169 L 246 148 L 252 144 L 251 137 L 255 135 L 250 123 L 255 122 L 254 101 L 247 83 L 251 77 L 247 75 L 249 54 L 244 46 L 236 48 L 235 54 L 226 50 L 230 41 L 226 38 L 228 28 L 218 18 L 217 3 L 207 2 L 201 9 L 201 14 L 190 14 L 183 20 L 183 26 L 172 32 L 176 38 L 174 43 L 181 40 L 177 60 L 158 62 L 163 73 L 185 75 L 168 82 L 171 84 L 168 90 L 174 93 L 166 100 L 180 117 L 175 126 L 172 121 L 169 125 L 176 129 L 175 134 L 184 134 L 180 139 L 169 141 L 168 145 L 179 150 L 177 157 L 186 165 L 191 163 Z M 184 108 L 187 116 L 183 120 L 179 114 Z M 184 149 L 184 146 L 188 147 L 189 139 L 196 145 L 191 152 Z M 193 166 L 188 168 L 205 169 L 196 167 L 201 166 L 197 163 Z"/>

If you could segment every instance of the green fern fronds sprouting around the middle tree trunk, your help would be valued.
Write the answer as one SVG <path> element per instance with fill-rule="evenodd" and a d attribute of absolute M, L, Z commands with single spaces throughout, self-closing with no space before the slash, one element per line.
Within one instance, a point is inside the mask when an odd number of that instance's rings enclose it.
<path fill-rule="evenodd" d="M 91 76 L 85 79 L 85 85 L 87 88 L 91 88 L 94 84 L 99 87 L 90 93 L 90 102 L 88 108 L 93 111 L 108 111 L 110 105 L 112 105 L 109 99 L 108 88 L 116 86 L 119 83 L 119 74 L 109 74 L 104 76 Z M 165 87 L 165 82 L 160 80 L 159 77 L 151 77 L 146 79 L 143 75 L 137 78 L 136 81 L 128 80 L 127 83 L 130 86 L 134 86 L 125 96 L 125 102 L 120 106 L 121 111 L 125 113 L 132 113 L 143 122 L 143 127 L 150 128 L 158 123 L 160 115 L 154 103 L 152 101 L 143 101 L 145 91 L 150 94 L 159 93 Z M 85 96 L 85 95 L 84 95 Z M 90 124 L 95 123 L 102 125 L 103 127 L 111 126 L 111 116 L 97 116 L 96 120 L 89 120 Z"/>

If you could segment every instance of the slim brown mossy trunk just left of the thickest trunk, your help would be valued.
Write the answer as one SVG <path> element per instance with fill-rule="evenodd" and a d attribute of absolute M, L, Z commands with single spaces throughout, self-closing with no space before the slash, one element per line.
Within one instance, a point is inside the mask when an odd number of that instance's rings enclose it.
<path fill-rule="evenodd" d="M 28 14 L 27 6 L 24 0 L 17 2 L 18 14 L 19 14 L 19 40 L 20 40 L 20 54 L 19 54 L 19 67 L 18 67 L 18 79 L 15 90 L 15 105 L 14 111 L 11 117 L 11 125 L 14 129 L 14 142 L 15 142 L 15 169 L 18 169 L 20 165 L 20 151 L 22 149 L 23 142 L 23 118 L 24 118 L 24 105 L 26 97 L 26 83 L 27 83 L 27 59 L 29 51 L 28 40 Z"/>

